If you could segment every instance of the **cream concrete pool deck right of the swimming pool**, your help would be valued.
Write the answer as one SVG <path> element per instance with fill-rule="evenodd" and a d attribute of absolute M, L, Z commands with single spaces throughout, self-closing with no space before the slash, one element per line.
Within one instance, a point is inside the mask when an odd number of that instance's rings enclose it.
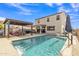
<path fill-rule="evenodd" d="M 79 42 L 76 36 L 73 36 L 73 45 L 70 44 L 69 40 L 69 43 L 67 41 L 65 46 L 65 48 L 61 52 L 63 56 L 79 56 Z"/>

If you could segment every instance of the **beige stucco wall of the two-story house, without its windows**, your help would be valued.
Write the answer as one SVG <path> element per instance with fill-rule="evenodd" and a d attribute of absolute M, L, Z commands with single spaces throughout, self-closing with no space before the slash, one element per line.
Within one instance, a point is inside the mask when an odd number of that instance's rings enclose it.
<path fill-rule="evenodd" d="M 60 20 L 56 20 L 57 15 L 60 15 Z M 47 18 L 49 18 L 49 22 L 47 22 Z M 38 23 L 38 20 L 40 20 L 40 23 Z M 55 26 L 55 31 L 46 30 L 46 33 L 63 33 L 65 24 L 66 14 L 64 12 L 37 19 L 35 22 L 35 25 Z"/>

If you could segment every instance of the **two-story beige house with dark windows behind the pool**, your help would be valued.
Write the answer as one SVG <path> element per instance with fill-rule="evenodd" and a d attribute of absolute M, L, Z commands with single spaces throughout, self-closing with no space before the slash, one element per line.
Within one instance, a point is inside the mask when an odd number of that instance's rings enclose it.
<path fill-rule="evenodd" d="M 38 33 L 59 33 L 71 32 L 70 17 L 65 12 L 59 12 L 35 20 Z"/>

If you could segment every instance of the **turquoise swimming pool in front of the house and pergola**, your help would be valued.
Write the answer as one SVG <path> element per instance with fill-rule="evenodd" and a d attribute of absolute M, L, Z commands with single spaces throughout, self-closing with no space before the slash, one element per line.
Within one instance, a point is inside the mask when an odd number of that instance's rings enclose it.
<path fill-rule="evenodd" d="M 66 39 L 44 35 L 13 41 L 12 44 L 22 56 L 58 56 Z"/>

